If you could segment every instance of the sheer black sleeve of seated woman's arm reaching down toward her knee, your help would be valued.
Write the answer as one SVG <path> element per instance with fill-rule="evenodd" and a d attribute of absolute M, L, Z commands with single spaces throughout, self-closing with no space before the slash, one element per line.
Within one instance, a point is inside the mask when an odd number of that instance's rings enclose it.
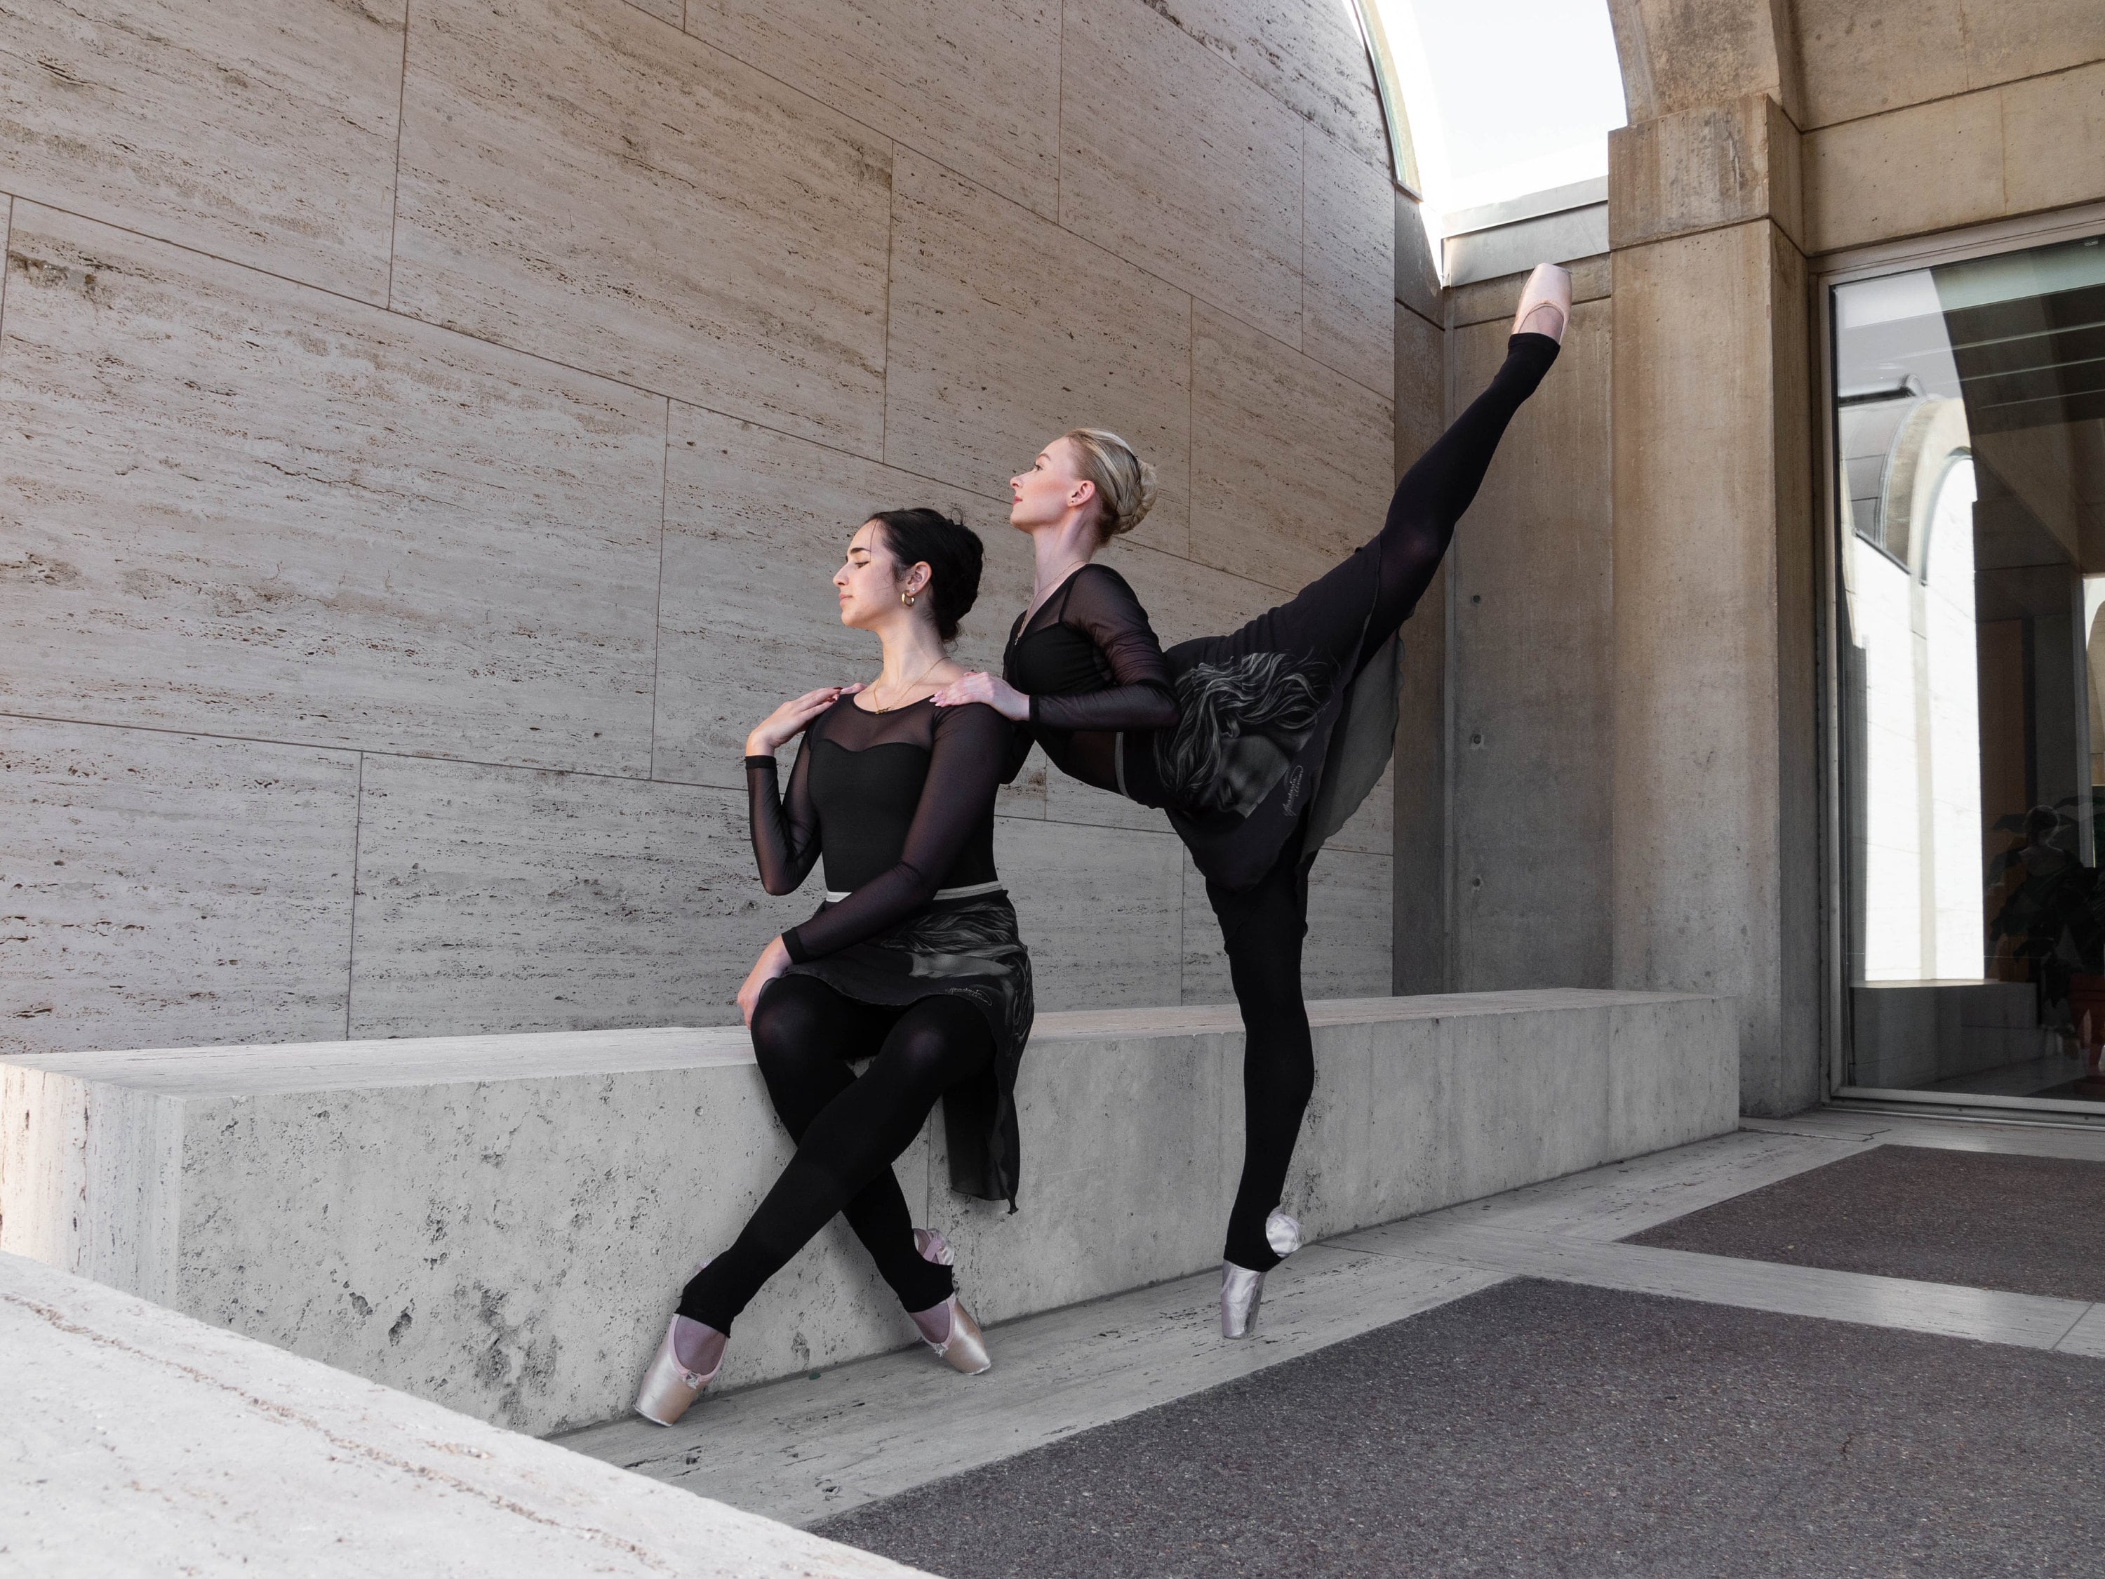
<path fill-rule="evenodd" d="M 783 933 L 791 960 L 836 954 L 926 905 L 964 842 L 994 808 L 1008 760 L 1008 722 L 991 707 L 943 707 L 914 823 L 899 865 L 880 872 L 838 905 Z"/>

